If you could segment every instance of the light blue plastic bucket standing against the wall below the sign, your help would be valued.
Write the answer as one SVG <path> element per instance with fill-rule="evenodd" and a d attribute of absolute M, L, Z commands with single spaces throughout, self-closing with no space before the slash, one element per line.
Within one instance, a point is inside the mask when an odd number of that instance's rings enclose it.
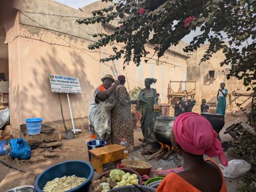
<path fill-rule="evenodd" d="M 25 119 L 27 125 L 27 134 L 28 135 L 38 135 L 41 132 L 42 128 L 42 118 L 30 118 Z"/>

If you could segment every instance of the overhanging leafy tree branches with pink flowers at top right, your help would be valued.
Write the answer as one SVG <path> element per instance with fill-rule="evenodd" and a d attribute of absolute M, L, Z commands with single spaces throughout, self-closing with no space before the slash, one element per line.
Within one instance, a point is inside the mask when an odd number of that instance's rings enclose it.
<path fill-rule="evenodd" d="M 139 9 L 145 12 L 141 14 Z M 120 27 L 113 34 L 96 34 L 94 37 L 100 37 L 99 40 L 89 46 L 95 49 L 114 41 L 124 45 L 115 49 L 114 55 L 102 58 L 102 62 L 123 55 L 124 66 L 131 61 L 138 66 L 146 56 L 147 42 L 155 45 L 155 54 L 160 57 L 171 45 L 177 45 L 183 37 L 200 27 L 202 33 L 194 37 L 184 51 L 196 50 L 208 41 L 210 46 L 201 62 L 222 50 L 226 59 L 221 65 L 231 66 L 228 78 L 244 79 L 246 86 L 256 80 L 256 0 L 118 0 L 92 14 L 93 17 L 77 22 L 105 24 L 119 19 Z M 192 20 L 185 25 L 188 18 Z M 148 62 L 148 59 L 144 61 Z M 252 89 L 256 91 L 255 86 Z"/>

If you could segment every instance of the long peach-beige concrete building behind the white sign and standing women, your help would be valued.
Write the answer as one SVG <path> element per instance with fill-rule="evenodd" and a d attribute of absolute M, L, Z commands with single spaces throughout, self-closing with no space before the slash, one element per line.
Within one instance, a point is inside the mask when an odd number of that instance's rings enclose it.
<path fill-rule="evenodd" d="M 82 94 L 71 94 L 70 101 L 75 127 L 85 126 L 92 93 L 101 84 L 101 77 L 110 73 L 127 77 L 128 91 L 144 87 L 144 79 L 154 77 L 154 85 L 167 102 L 167 87 L 170 80 L 185 81 L 187 59 L 181 42 L 170 47 L 157 61 L 154 56 L 139 67 L 130 63 L 122 70 L 123 58 L 101 63 L 100 59 L 111 54 L 111 45 L 88 50 L 95 42 L 89 34 L 111 32 L 110 25 L 79 25 L 77 18 L 91 16 L 91 10 L 105 7 L 101 0 L 80 9 L 73 9 L 54 0 L 18 0 L 15 17 L 0 26 L 0 73 L 9 80 L 9 108 L 12 129 L 19 130 L 24 119 L 41 117 L 44 123 L 62 129 L 61 112 L 56 93 L 51 92 L 49 73 L 78 77 Z M 64 17 L 63 17 L 64 16 Z M 112 25 L 115 26 L 115 23 Z M 116 45 L 121 46 L 121 45 Z M 146 45 L 154 53 L 153 46 Z M 3 51 L 2 51 L 3 50 Z M 152 55 L 150 55 L 152 56 Z M 70 114 L 65 94 L 61 94 L 64 118 L 71 128 Z"/>

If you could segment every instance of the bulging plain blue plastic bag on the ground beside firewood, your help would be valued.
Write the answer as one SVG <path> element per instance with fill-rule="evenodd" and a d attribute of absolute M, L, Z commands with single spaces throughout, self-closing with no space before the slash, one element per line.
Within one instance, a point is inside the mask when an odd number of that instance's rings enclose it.
<path fill-rule="evenodd" d="M 11 150 L 10 155 L 12 158 L 29 159 L 31 157 L 30 146 L 27 145 L 23 138 L 17 139 L 18 147 Z"/>

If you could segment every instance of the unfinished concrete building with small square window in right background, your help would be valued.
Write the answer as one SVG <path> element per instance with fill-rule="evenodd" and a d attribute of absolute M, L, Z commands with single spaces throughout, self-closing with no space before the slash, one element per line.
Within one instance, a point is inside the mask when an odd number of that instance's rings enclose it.
<path fill-rule="evenodd" d="M 225 55 L 221 51 L 213 54 L 210 60 L 200 64 L 202 55 L 204 55 L 208 46 L 202 45 L 194 51 L 187 62 L 187 81 L 196 81 L 195 100 L 198 104 L 201 104 L 201 100 L 206 99 L 209 106 L 216 107 L 216 96 L 220 83 L 225 82 L 229 91 L 227 108 L 230 110 L 238 109 L 236 102 L 242 104 L 242 107 L 248 108 L 252 91 L 246 91 L 247 87 L 243 85 L 243 80 L 238 80 L 235 77 L 227 79 L 226 75 L 229 74 L 229 66 L 220 66 L 220 63 L 225 59 Z M 235 96 L 232 94 L 233 91 L 238 92 L 236 101 Z"/>

